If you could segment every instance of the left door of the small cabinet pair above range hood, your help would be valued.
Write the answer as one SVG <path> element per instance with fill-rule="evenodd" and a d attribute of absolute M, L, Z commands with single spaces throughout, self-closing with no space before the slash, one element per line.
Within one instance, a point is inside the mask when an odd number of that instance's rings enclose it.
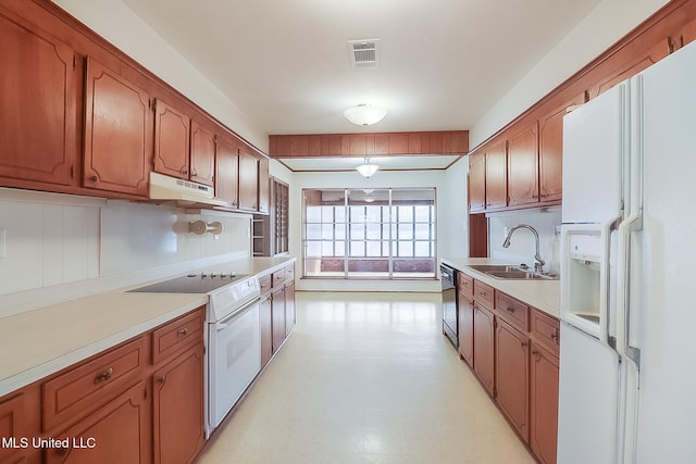
<path fill-rule="evenodd" d="M 190 124 L 183 112 L 154 102 L 154 171 L 188 179 Z"/>

